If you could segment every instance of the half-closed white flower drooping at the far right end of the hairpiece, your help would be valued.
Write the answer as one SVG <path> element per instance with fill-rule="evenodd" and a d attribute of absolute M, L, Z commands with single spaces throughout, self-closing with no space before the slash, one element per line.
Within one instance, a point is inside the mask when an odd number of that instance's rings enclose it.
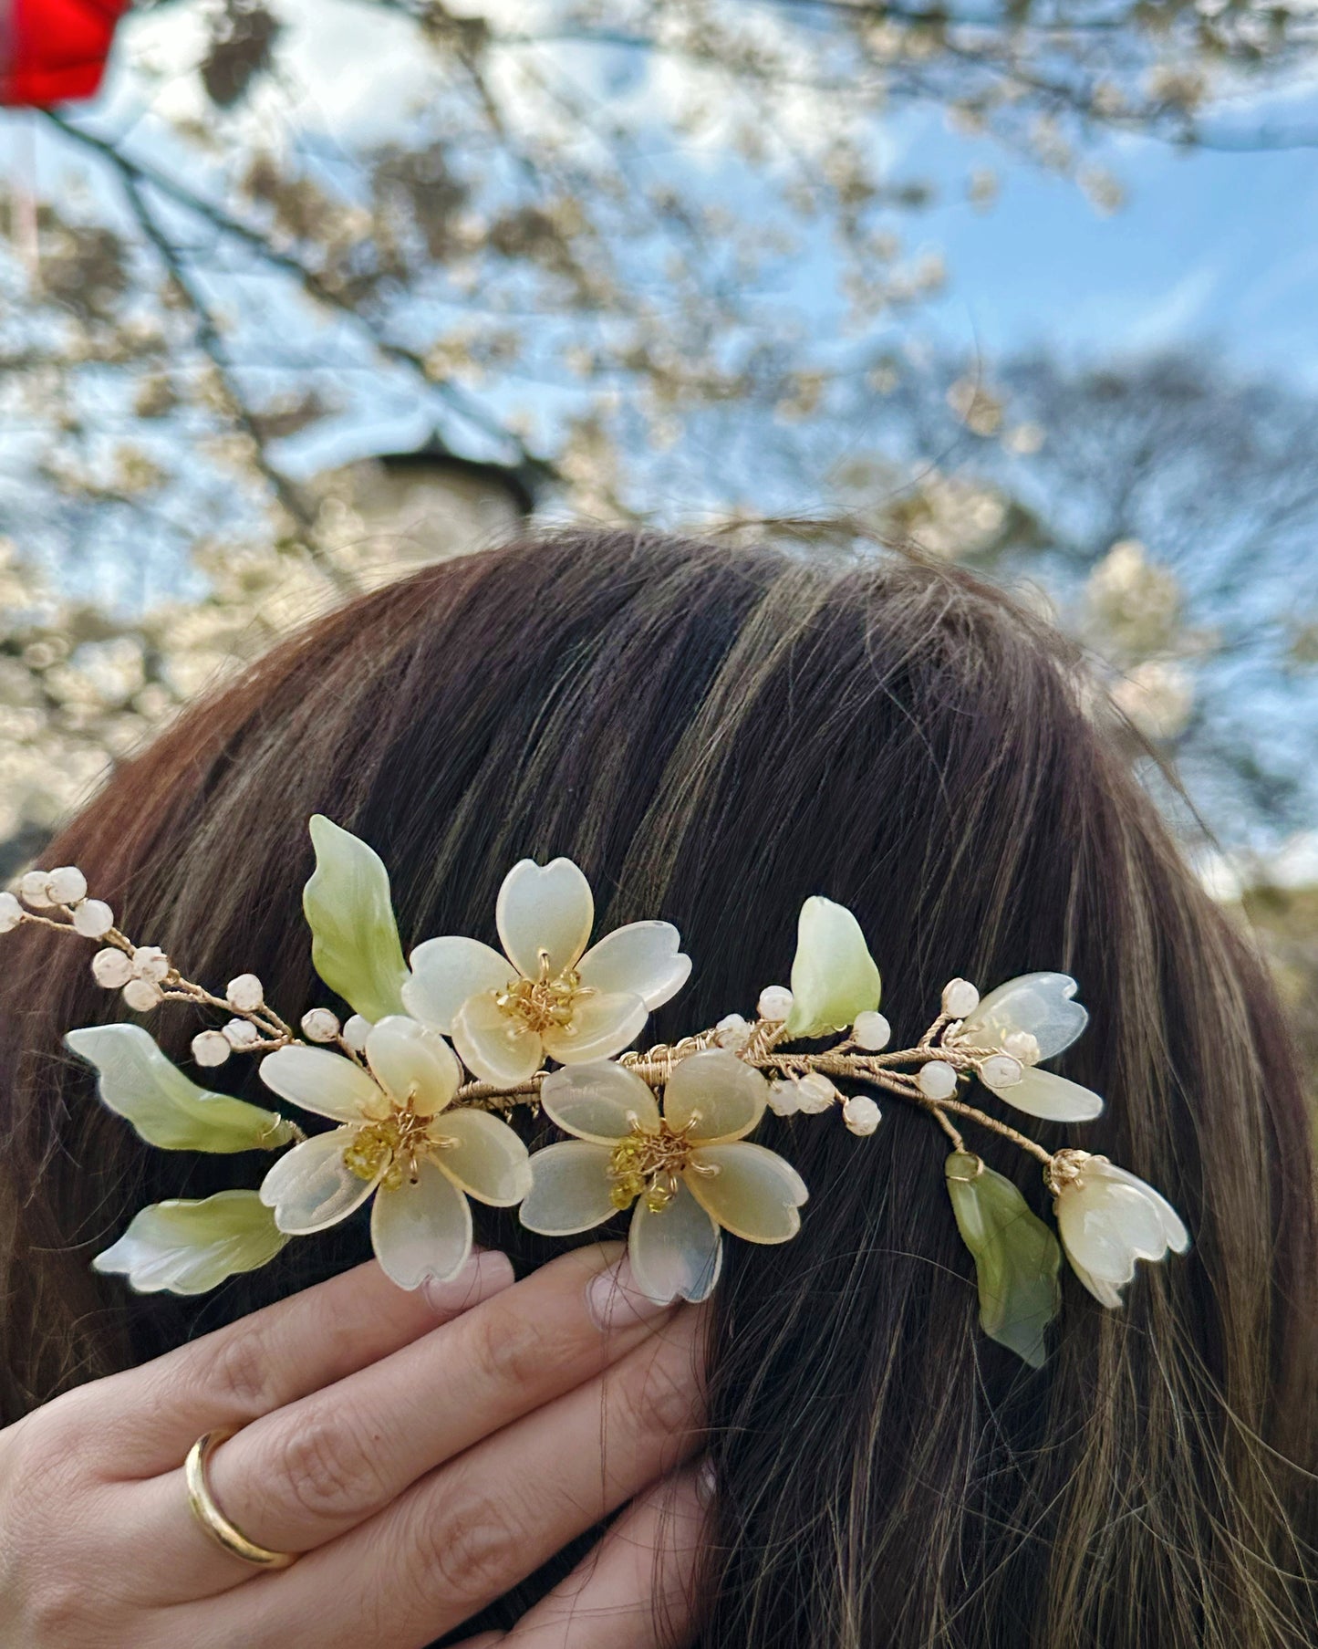
<path fill-rule="evenodd" d="M 1163 1260 L 1168 1248 L 1185 1253 L 1189 1232 L 1166 1197 L 1105 1156 L 1059 1151 L 1058 1158 L 1069 1169 L 1053 1200 L 1066 1258 L 1101 1304 L 1120 1306 L 1135 1261 Z"/>

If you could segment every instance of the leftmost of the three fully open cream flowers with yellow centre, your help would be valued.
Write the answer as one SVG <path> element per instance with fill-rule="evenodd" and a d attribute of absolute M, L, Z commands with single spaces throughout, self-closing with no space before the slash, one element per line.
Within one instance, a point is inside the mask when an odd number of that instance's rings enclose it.
<path fill-rule="evenodd" d="M 468 1196 L 494 1207 L 530 1187 L 527 1149 L 489 1111 L 450 1110 L 461 1083 L 453 1049 L 390 1014 L 366 1039 L 362 1070 L 323 1047 L 283 1047 L 260 1064 L 267 1087 L 338 1128 L 282 1156 L 260 1186 L 282 1232 L 348 1219 L 376 1192 L 371 1243 L 399 1288 L 455 1276 L 471 1252 Z"/>

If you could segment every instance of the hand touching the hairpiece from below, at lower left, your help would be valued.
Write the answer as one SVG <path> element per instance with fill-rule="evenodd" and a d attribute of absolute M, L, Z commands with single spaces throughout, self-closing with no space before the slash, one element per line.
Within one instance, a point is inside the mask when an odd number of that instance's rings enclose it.
<path fill-rule="evenodd" d="M 507 1636 L 466 1649 L 680 1641 L 702 1514 L 700 1313 L 628 1288 L 619 1247 L 522 1283 L 498 1253 L 428 1293 L 371 1263 L 0 1431 L 7 1649 L 420 1649 L 634 1501 Z M 305 1553 L 262 1571 L 188 1509 Z M 636 1499 L 639 1496 L 639 1499 Z"/>

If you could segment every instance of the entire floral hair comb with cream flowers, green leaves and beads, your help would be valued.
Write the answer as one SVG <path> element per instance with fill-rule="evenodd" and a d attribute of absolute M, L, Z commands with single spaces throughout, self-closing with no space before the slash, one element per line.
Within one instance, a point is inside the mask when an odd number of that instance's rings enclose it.
<path fill-rule="evenodd" d="M 372 1200 L 371 1240 L 402 1288 L 453 1276 L 471 1248 L 470 1199 L 511 1207 L 534 1232 L 568 1237 L 631 1209 L 638 1285 L 654 1299 L 705 1299 L 723 1232 L 794 1237 L 807 1191 L 796 1169 L 751 1141 L 766 1110 L 837 1113 L 853 1135 L 880 1125 L 875 1092 L 924 1110 L 947 1135 L 947 1191 L 975 1260 L 984 1331 L 1038 1367 L 1058 1314 L 1061 1250 L 1017 1186 L 970 1151 L 957 1123 L 1012 1141 L 1043 1166 L 1058 1237 L 1104 1306 L 1137 1260 L 1183 1253 L 1175 1209 L 1142 1179 L 1086 1151 L 1048 1151 L 964 1098 L 972 1082 L 1017 1111 L 1089 1121 L 1097 1093 L 1043 1070 L 1081 1034 L 1076 981 L 1030 973 L 980 998 L 942 989 L 914 1047 L 890 1050 L 880 975 L 860 925 L 829 899 L 801 909 L 791 989 L 759 994 L 756 1017 L 624 1052 L 651 1009 L 685 983 L 690 960 L 667 922 L 634 922 L 590 945 L 595 905 L 568 859 L 516 864 L 494 923 L 502 953 L 432 938 L 404 960 L 379 856 L 326 818 L 311 820 L 316 871 L 303 907 L 320 978 L 353 1009 L 301 1017 L 301 1036 L 242 973 L 216 996 L 158 947 L 135 945 L 81 871 L 31 871 L 0 894 L 0 932 L 40 923 L 99 945 L 92 973 L 147 1012 L 188 1001 L 227 1021 L 193 1039 L 211 1067 L 260 1055 L 282 1100 L 333 1128 L 310 1138 L 278 1111 L 191 1082 L 137 1024 L 91 1026 L 68 1044 L 99 1073 L 100 1098 L 168 1151 L 287 1149 L 259 1191 L 142 1209 L 94 1265 L 140 1291 L 203 1293 L 272 1260 L 290 1237 L 325 1230 Z M 791 1050 L 817 1044 L 822 1050 Z M 526 1105 L 563 1135 L 534 1154 L 504 1120 Z"/>

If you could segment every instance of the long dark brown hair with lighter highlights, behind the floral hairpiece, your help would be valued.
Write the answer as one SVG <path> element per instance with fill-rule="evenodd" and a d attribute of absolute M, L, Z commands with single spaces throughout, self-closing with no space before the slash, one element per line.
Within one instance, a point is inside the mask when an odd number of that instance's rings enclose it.
<path fill-rule="evenodd" d="M 697 968 L 657 1039 L 781 980 L 814 892 L 858 914 L 906 1041 L 954 975 L 1074 973 L 1092 1024 L 1064 1069 L 1109 1106 L 1073 1143 L 1166 1192 L 1193 1252 L 1143 1266 L 1120 1313 L 1068 1280 L 1035 1374 L 979 1332 L 924 1116 L 891 1103 L 863 1144 L 768 1118 L 811 1202 L 794 1242 L 731 1245 L 717 1294 L 702 1641 L 1306 1644 L 1318 1288 L 1300 1080 L 1254 953 L 1077 679 L 1056 635 L 952 569 L 563 533 L 315 623 L 125 767 L 48 862 L 81 864 L 194 978 L 250 968 L 292 1011 L 328 1001 L 298 909 L 311 811 L 384 856 L 405 943 L 493 937 L 524 854 L 572 856 L 601 927 L 671 918 Z M 117 1001 L 74 947 L 10 943 L 7 1418 L 364 1252 L 349 1222 L 203 1301 L 92 1276 L 143 1200 L 254 1184 L 260 1164 L 142 1146 L 61 1049 Z M 176 1057 L 185 1019 L 158 1022 Z M 222 1080 L 257 1087 L 234 1065 Z M 1033 1164 L 990 1156 L 1043 1205 Z M 483 1237 L 542 1252 L 514 1219 Z"/>

